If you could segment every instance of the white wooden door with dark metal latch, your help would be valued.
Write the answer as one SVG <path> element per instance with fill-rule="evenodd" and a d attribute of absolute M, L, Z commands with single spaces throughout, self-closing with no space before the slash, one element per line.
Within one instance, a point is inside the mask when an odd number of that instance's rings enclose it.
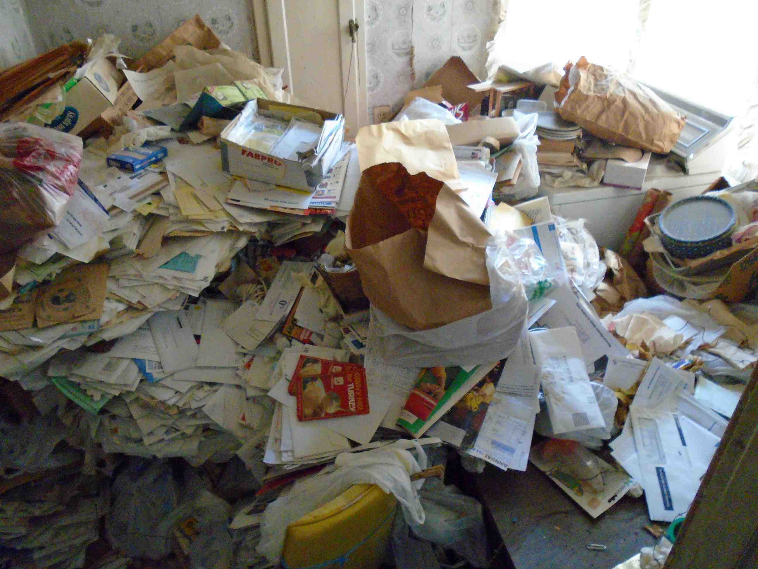
<path fill-rule="evenodd" d="M 284 68 L 305 104 L 342 113 L 347 138 L 368 124 L 363 0 L 253 0 L 261 63 Z M 349 20 L 359 24 L 356 41 Z M 263 22 L 267 25 L 262 25 Z"/>

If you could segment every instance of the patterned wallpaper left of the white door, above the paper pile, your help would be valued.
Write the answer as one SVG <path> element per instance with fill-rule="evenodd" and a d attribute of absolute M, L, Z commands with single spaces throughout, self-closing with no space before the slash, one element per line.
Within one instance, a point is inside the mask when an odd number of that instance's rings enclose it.
<path fill-rule="evenodd" d="M 252 2 L 246 0 L 0 0 L 26 2 L 40 50 L 102 33 L 121 38 L 124 55 L 138 58 L 189 17 L 205 24 L 236 51 L 258 58 Z"/>

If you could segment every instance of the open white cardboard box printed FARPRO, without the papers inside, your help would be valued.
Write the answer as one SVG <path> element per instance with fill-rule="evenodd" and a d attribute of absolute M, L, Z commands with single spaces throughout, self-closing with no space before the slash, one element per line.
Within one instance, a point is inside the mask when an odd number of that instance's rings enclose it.
<path fill-rule="evenodd" d="M 321 152 L 303 162 L 280 159 L 229 140 L 231 131 L 239 124 L 244 113 L 259 112 L 262 115 L 271 115 L 275 112 L 297 112 L 298 110 L 318 113 L 324 121 L 340 121 L 336 132 L 332 134 L 330 140 L 327 140 Z M 249 102 L 243 114 L 237 116 L 221 133 L 221 168 L 225 172 L 296 190 L 314 190 L 318 184 L 321 184 L 321 180 L 334 164 L 342 147 L 345 136 L 345 118 L 342 115 L 267 99 L 255 99 Z"/>

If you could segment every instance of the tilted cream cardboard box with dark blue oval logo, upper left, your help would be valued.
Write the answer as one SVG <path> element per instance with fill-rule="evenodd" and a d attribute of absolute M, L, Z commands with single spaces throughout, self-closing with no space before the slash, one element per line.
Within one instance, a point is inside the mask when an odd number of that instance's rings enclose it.
<path fill-rule="evenodd" d="M 79 134 L 89 123 L 111 108 L 126 77 L 107 59 L 89 68 L 81 80 L 66 93 L 64 111 L 50 127 L 69 134 Z"/>

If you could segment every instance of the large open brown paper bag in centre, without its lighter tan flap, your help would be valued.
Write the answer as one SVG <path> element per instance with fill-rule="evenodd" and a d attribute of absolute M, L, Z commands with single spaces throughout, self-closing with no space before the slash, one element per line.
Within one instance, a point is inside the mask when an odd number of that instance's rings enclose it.
<path fill-rule="evenodd" d="M 427 234 L 423 228 L 431 225 L 433 217 L 428 207 L 415 208 L 410 199 L 398 206 L 397 200 L 387 198 L 416 196 L 426 204 L 436 204 L 444 187 L 423 172 L 409 174 L 398 163 L 373 165 L 363 171 L 347 223 L 346 247 L 359 269 L 366 296 L 379 310 L 413 330 L 434 329 L 492 308 L 489 286 L 424 268 Z M 447 191 L 455 196 L 453 190 Z M 455 203 L 452 198 L 449 201 Z"/>

